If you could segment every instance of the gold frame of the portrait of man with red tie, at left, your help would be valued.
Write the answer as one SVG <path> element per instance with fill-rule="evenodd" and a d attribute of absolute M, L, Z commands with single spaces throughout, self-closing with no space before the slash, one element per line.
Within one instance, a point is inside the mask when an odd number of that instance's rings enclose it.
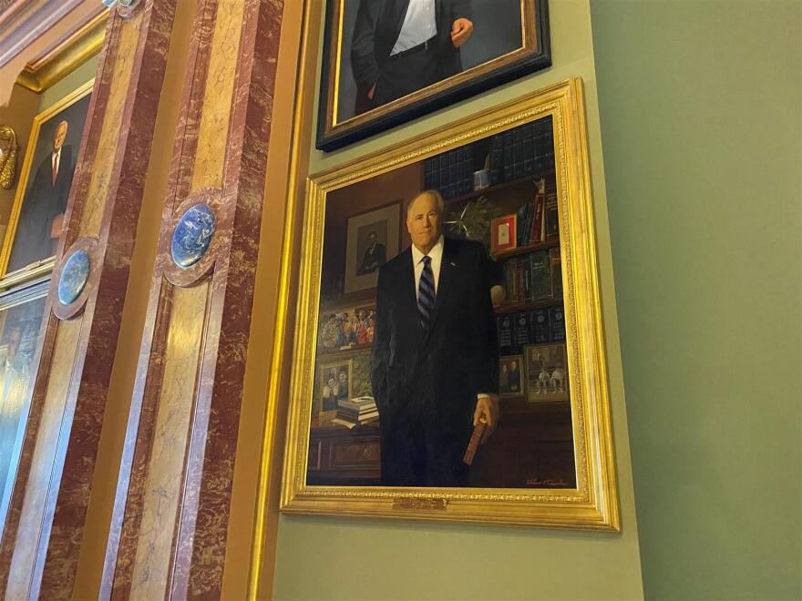
<path fill-rule="evenodd" d="M 79 100 L 89 96 L 92 89 L 95 87 L 94 77 L 87 81 L 86 84 L 73 90 L 66 97 L 61 98 L 51 107 L 47 107 L 44 111 L 34 117 L 34 125 L 31 127 L 31 136 L 28 139 L 26 147 L 26 156 L 19 171 L 19 179 L 16 185 L 16 193 L 14 196 L 14 204 L 11 207 L 11 215 L 8 219 L 8 229 L 5 231 L 5 239 L 3 240 L 3 247 L 0 250 L 0 288 L 9 288 L 18 282 L 30 280 L 38 276 L 50 273 L 55 264 L 55 256 L 46 257 L 36 263 L 27 265 L 19 270 L 7 272 L 8 262 L 11 260 L 11 251 L 14 248 L 14 239 L 16 235 L 17 225 L 19 223 L 20 212 L 22 205 L 25 201 L 28 179 L 31 177 L 31 169 L 35 169 L 33 165 L 34 155 L 36 154 L 36 144 L 39 139 L 42 124 L 48 119 L 55 117 L 67 107 L 71 107 Z M 78 148 L 76 151 L 79 153 Z M 78 157 L 76 157 L 77 159 Z"/>

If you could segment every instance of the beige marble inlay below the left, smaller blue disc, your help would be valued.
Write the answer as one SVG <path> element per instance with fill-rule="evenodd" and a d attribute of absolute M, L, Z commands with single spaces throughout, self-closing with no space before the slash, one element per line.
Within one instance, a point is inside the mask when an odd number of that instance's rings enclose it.
<path fill-rule="evenodd" d="M 27 596 L 27 586 L 33 570 L 36 544 L 41 531 L 38 522 L 42 519 L 53 456 L 58 444 L 58 431 L 64 418 L 69 381 L 75 362 L 78 339 L 81 333 L 82 318 L 61 321 L 58 324 L 56 345 L 50 366 L 49 379 L 45 392 L 44 409 L 39 432 L 36 435 L 36 451 L 28 476 L 25 502 L 17 530 L 16 549 L 11 562 L 6 599 L 22 599 Z"/>

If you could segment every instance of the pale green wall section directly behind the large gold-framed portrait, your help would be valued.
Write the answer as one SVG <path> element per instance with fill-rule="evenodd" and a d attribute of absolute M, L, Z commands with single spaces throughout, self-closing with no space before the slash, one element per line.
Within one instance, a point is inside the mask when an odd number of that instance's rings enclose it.
<path fill-rule="evenodd" d="M 569 76 L 581 76 L 602 276 L 612 386 L 613 433 L 622 533 L 431 525 L 284 515 L 280 519 L 277 599 L 637 599 L 643 596 L 632 474 L 616 326 L 612 259 L 604 193 L 596 75 L 587 0 L 553 0 L 550 69 L 405 127 L 324 155 L 311 172 L 440 127 Z"/>

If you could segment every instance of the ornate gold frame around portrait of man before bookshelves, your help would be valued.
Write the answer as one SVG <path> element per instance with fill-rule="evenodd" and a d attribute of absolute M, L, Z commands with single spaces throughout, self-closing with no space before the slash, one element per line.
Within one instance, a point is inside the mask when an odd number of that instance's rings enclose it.
<path fill-rule="evenodd" d="M 564 290 L 560 302 L 564 303 L 566 315 L 571 379 L 571 398 L 567 405 L 574 461 L 571 481 L 555 484 L 558 479 L 541 475 L 532 478 L 532 487 L 392 487 L 365 482 L 308 484 L 312 400 L 315 371 L 319 367 L 315 352 L 327 194 L 541 118 L 549 118 L 553 123 L 556 167 L 551 168 L 551 177 L 560 205 Z M 483 192 L 492 190 L 485 188 Z M 386 148 L 373 156 L 314 175 L 307 180 L 304 206 L 282 511 L 617 531 L 620 528 L 619 500 L 581 79 L 571 78 L 554 84 L 530 96 L 440 127 L 404 145 Z M 502 404 L 506 401 L 509 400 L 501 400 Z M 543 405 L 550 403 L 532 404 L 537 405 L 537 410 L 548 411 Z M 365 429 L 365 440 L 373 445 L 371 449 L 375 449 L 376 435 L 375 431 Z M 315 482 L 323 482 L 320 441 L 318 435 L 315 440 L 318 454 L 312 458 L 317 474 Z"/>

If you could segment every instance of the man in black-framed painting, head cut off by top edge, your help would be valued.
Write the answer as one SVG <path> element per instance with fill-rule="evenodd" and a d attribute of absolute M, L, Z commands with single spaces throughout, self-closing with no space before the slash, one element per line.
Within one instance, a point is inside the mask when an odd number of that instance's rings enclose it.
<path fill-rule="evenodd" d="M 470 0 L 361 0 L 351 43 L 355 115 L 462 71 Z"/>

